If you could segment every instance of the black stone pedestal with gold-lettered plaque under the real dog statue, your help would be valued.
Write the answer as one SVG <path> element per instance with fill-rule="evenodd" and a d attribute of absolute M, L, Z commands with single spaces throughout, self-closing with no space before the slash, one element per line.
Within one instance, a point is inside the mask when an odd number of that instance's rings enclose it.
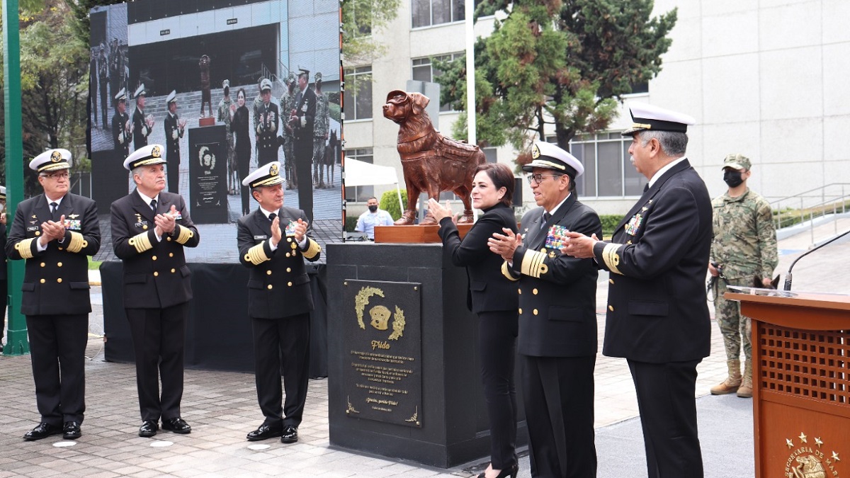
<path fill-rule="evenodd" d="M 442 244 L 328 244 L 326 257 L 331 444 L 440 468 L 489 458 L 466 270 Z"/>

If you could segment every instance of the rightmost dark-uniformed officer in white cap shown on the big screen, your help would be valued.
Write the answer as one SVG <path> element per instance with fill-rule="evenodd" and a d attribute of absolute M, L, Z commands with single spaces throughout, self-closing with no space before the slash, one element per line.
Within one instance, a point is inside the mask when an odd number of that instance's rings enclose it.
<path fill-rule="evenodd" d="M 313 127 L 316 117 L 316 94 L 308 88 L 310 72 L 300 68 L 298 93 L 293 111 L 288 111 L 289 124 L 295 137 L 295 174 L 298 180 L 298 207 L 313 220 Z M 289 161 L 289 158 L 286 158 Z"/>

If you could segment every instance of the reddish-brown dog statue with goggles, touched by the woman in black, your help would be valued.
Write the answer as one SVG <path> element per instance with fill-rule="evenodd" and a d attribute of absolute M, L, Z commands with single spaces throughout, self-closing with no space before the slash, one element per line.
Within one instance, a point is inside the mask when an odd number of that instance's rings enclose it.
<path fill-rule="evenodd" d="M 439 193 L 452 191 L 461 197 L 463 215 L 458 223 L 473 222 L 472 184 L 475 168 L 485 162 L 484 152 L 475 145 L 448 139 L 433 128 L 425 112 L 424 94 L 393 90 L 387 94 L 383 116 L 399 125 L 396 149 L 407 187 L 407 207 L 396 225 L 411 225 L 416 219 L 416 201 L 422 191 L 439 201 Z M 431 213 L 422 224 L 436 224 Z"/>

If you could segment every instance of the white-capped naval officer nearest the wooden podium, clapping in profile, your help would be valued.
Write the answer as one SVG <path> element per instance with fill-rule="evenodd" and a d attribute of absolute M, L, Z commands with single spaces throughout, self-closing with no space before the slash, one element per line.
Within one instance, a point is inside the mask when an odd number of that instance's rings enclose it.
<path fill-rule="evenodd" d="M 632 104 L 629 154 L 649 179 L 610 242 L 575 231 L 564 252 L 611 272 L 606 356 L 625 357 L 638 392 L 650 478 L 703 476 L 696 366 L 709 355 L 706 264 L 711 197 L 685 155 L 694 118 Z"/>

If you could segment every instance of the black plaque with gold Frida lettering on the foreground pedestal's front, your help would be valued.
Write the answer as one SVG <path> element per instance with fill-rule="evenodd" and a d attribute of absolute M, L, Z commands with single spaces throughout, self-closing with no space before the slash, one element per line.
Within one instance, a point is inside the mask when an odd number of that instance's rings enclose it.
<path fill-rule="evenodd" d="M 351 418 L 422 427 L 421 284 L 343 282 L 343 407 Z"/>

